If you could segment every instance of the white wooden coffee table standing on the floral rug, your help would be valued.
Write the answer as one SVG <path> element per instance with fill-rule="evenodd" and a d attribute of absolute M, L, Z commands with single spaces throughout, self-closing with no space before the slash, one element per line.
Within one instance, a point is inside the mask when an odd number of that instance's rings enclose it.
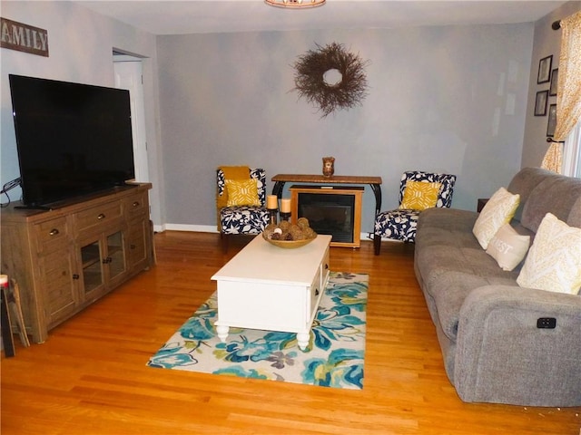
<path fill-rule="evenodd" d="M 213 275 L 222 342 L 230 327 L 261 329 L 297 333 L 304 350 L 329 280 L 330 239 L 319 235 L 307 246 L 284 249 L 257 236 Z"/>

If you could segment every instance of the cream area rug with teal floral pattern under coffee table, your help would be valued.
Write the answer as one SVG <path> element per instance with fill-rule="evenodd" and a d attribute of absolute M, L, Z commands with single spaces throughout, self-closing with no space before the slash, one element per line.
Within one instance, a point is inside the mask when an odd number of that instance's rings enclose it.
<path fill-rule="evenodd" d="M 363 388 L 368 275 L 330 273 L 301 351 L 295 333 L 230 328 L 216 334 L 214 293 L 147 362 L 150 367 L 335 388 Z"/>

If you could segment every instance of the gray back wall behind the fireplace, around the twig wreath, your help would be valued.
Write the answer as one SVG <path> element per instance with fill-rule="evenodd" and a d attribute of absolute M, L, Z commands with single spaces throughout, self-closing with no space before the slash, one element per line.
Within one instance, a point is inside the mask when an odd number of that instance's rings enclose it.
<path fill-rule="evenodd" d="M 362 59 L 361 107 L 320 119 L 298 99 L 291 64 L 315 43 Z M 214 172 L 249 164 L 277 173 L 383 178 L 397 206 L 406 169 L 458 175 L 453 207 L 507 185 L 521 167 L 533 24 L 158 37 L 167 222 L 212 226 Z M 288 194 L 285 194 L 285 196 Z M 374 198 L 364 195 L 362 231 Z"/>

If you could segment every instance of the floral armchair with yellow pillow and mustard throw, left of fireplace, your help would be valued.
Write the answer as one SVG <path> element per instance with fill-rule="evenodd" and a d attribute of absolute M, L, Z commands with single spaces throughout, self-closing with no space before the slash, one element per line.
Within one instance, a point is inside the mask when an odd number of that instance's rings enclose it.
<path fill-rule="evenodd" d="M 221 167 L 216 171 L 216 212 L 222 247 L 232 235 L 257 235 L 268 225 L 266 171 L 249 167 Z"/>

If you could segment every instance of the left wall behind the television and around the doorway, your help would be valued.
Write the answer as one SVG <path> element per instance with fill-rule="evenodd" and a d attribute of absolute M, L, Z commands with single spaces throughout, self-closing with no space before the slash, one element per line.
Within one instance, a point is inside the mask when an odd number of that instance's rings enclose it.
<path fill-rule="evenodd" d="M 164 205 L 160 197 L 163 179 L 159 170 L 159 113 L 157 102 L 157 59 L 155 36 L 130 25 L 95 14 L 84 6 L 70 2 L 2 2 L 2 17 L 34 25 L 48 31 L 49 57 L 1 51 L 0 81 L 0 152 L 2 184 L 19 177 L 18 157 L 8 74 L 21 74 L 65 82 L 82 82 L 114 86 L 113 49 L 143 57 L 143 92 L 147 122 L 147 140 L 153 191 L 152 215 L 162 221 Z M 20 189 L 9 192 L 18 200 Z M 6 198 L 0 199 L 3 203 Z"/>

